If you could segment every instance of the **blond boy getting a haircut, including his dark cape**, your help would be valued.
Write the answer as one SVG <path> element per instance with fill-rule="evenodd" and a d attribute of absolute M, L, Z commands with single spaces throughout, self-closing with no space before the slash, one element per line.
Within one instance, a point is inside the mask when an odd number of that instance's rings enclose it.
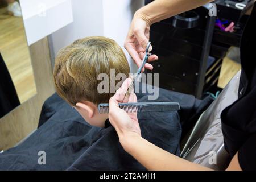
<path fill-rule="evenodd" d="M 126 57 L 114 40 L 89 37 L 63 48 L 56 57 L 53 77 L 57 93 L 68 104 L 57 94 L 49 97 L 43 105 L 38 130 L 18 147 L 0 154 L 0 170 L 145 170 L 123 150 L 114 128 L 105 125 L 108 114 L 98 113 L 97 105 L 109 102 L 114 93 L 100 94 L 97 88 L 102 81 L 97 78 L 100 73 L 110 77 L 112 68 L 115 75 L 129 75 Z M 188 108 L 194 109 L 191 103 L 195 97 L 163 89 L 159 92 L 157 102 L 180 102 L 187 113 Z M 146 94 L 137 97 L 139 102 L 150 101 Z M 137 116 L 144 138 L 180 155 L 181 125 L 177 112 L 146 112 Z M 88 125 L 84 119 L 98 127 Z M 39 165 L 39 151 L 46 153 L 46 165 Z"/>

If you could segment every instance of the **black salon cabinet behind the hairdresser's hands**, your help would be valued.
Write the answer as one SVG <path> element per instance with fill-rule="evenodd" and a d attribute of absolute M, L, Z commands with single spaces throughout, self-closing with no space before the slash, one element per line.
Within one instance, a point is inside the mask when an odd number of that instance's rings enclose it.
<path fill-rule="evenodd" d="M 158 55 L 159 60 L 152 63 L 154 70 L 147 73 L 159 73 L 159 87 L 193 94 L 197 98 L 221 90 L 217 84 L 222 61 L 231 46 L 240 46 L 251 0 L 244 10 L 229 7 L 233 15 L 226 13 L 223 1 L 214 2 L 217 18 L 233 21 L 236 31 L 225 32 L 215 27 L 216 17 L 208 15 L 207 6 L 191 10 L 199 15 L 197 26 L 192 28 L 174 27 L 174 18 L 152 24 L 152 53 Z"/>

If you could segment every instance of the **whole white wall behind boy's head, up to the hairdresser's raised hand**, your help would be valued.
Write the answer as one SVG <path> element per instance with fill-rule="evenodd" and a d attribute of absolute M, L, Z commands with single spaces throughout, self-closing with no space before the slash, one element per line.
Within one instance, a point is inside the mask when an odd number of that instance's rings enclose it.
<path fill-rule="evenodd" d="M 133 14 L 143 5 L 144 0 L 72 0 L 73 23 L 50 36 L 52 57 L 60 48 L 85 36 L 106 36 L 123 48 Z M 137 67 L 123 50 L 131 72 L 135 72 Z"/>

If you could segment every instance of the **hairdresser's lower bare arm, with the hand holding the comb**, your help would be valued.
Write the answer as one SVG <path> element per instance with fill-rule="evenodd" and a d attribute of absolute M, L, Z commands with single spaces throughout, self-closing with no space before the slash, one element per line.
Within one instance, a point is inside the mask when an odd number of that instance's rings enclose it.
<path fill-rule="evenodd" d="M 210 170 L 210 168 L 189 162 L 164 151 L 141 137 L 137 113 L 127 114 L 118 107 L 118 102 L 123 101 L 130 82 L 130 78 L 123 82 L 121 88 L 109 100 L 109 121 L 117 131 L 119 141 L 125 151 L 149 170 Z M 136 95 L 131 93 L 127 101 L 137 102 Z M 227 169 L 241 170 L 237 154 Z"/>

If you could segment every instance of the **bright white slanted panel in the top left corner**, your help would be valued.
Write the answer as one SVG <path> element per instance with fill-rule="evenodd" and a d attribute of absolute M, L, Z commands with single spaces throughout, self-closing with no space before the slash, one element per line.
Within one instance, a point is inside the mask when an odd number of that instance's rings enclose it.
<path fill-rule="evenodd" d="M 71 0 L 20 0 L 28 45 L 52 34 L 73 20 Z"/>

